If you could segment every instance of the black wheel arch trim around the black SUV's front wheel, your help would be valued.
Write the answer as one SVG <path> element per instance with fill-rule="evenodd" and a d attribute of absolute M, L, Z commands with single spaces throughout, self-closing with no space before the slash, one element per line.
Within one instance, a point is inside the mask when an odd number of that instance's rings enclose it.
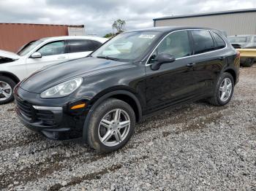
<path fill-rule="evenodd" d="M 87 142 L 87 128 L 89 125 L 89 119 L 91 117 L 92 112 L 94 111 L 94 109 L 97 108 L 97 106 L 99 106 L 99 104 L 102 103 L 102 101 L 105 101 L 108 98 L 117 98 L 121 101 L 126 102 L 135 111 L 136 121 L 140 122 L 140 120 L 142 119 L 142 108 L 137 96 L 129 90 L 114 90 L 98 98 L 94 98 L 91 101 L 91 109 L 89 110 L 83 125 L 83 141 Z"/>

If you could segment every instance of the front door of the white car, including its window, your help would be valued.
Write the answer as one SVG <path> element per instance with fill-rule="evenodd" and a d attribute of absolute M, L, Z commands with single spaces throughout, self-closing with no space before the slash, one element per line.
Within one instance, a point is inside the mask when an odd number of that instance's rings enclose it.
<path fill-rule="evenodd" d="M 44 66 L 68 61 L 69 59 L 66 49 L 66 42 L 64 40 L 44 44 L 42 47 L 39 47 L 36 52 L 40 52 L 42 58 L 29 57 L 26 59 L 28 75 L 34 71 L 37 71 L 38 69 L 42 69 Z"/>

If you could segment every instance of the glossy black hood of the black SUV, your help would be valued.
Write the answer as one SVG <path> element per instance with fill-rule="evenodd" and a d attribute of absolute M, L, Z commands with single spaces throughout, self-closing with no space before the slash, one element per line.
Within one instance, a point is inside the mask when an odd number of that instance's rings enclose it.
<path fill-rule="evenodd" d="M 58 63 L 36 71 L 21 82 L 20 87 L 31 93 L 42 93 L 48 88 L 75 77 L 87 77 L 93 74 L 123 68 L 127 63 L 110 61 L 102 58 L 81 58 L 74 61 Z"/>

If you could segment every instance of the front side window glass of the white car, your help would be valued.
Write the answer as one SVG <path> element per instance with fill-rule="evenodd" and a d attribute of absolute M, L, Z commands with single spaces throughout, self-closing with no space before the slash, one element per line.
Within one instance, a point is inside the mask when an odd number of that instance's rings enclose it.
<path fill-rule="evenodd" d="M 64 54 L 64 41 L 50 42 L 37 50 L 37 52 L 40 52 L 42 56 Z"/>

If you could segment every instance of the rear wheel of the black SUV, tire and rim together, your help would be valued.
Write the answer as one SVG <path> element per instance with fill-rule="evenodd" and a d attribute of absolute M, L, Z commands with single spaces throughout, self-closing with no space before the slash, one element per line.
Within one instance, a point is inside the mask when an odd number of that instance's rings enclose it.
<path fill-rule="evenodd" d="M 225 87 L 225 80 L 230 84 L 229 87 L 227 86 Z M 223 98 L 222 98 L 221 87 L 222 87 L 222 90 L 227 90 L 227 92 L 225 91 L 225 96 Z M 209 99 L 209 102 L 214 106 L 224 106 L 232 98 L 233 92 L 234 92 L 234 79 L 230 73 L 225 72 L 219 77 L 217 85 L 214 90 L 214 95 Z"/>

